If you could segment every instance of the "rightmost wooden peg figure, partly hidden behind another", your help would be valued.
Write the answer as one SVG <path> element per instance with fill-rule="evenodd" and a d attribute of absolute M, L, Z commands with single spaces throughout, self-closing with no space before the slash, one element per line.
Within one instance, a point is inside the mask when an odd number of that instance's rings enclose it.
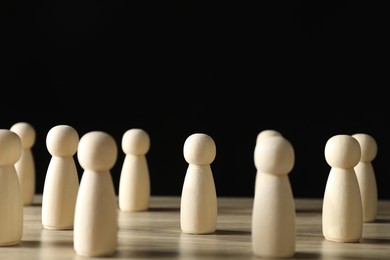
<path fill-rule="evenodd" d="M 358 140 L 361 148 L 361 157 L 355 166 L 355 173 L 362 196 L 363 222 L 373 222 L 377 215 L 378 190 L 372 161 L 377 155 L 378 146 L 371 135 L 357 133 L 352 137 Z"/>

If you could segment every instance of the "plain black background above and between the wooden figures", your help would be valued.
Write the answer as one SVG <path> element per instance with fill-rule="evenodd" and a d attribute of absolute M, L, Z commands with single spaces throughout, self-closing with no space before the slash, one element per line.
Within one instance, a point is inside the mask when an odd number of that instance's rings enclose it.
<path fill-rule="evenodd" d="M 36 128 L 37 192 L 46 134 L 69 124 L 116 139 L 116 188 L 123 133 L 146 130 L 154 195 L 180 195 L 184 141 L 204 132 L 217 146 L 218 195 L 253 196 L 256 136 L 275 129 L 295 149 L 294 195 L 322 197 L 326 141 L 364 132 L 378 143 L 379 197 L 390 199 L 384 6 L 252 2 L 2 1 L 0 127 Z"/>

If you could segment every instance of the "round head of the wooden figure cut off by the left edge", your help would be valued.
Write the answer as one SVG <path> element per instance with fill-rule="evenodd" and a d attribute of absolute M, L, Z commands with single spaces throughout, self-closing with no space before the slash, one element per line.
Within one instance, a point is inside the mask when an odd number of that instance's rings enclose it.
<path fill-rule="evenodd" d="M 22 155 L 22 140 L 8 129 L 0 129 L 0 165 L 14 165 Z"/>

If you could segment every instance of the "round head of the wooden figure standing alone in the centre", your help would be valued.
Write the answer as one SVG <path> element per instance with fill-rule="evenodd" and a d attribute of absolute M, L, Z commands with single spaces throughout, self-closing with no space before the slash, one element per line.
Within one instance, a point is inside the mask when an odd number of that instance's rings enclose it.
<path fill-rule="evenodd" d="M 184 142 L 183 155 L 189 164 L 209 165 L 214 161 L 216 152 L 213 138 L 204 133 L 192 134 Z"/>

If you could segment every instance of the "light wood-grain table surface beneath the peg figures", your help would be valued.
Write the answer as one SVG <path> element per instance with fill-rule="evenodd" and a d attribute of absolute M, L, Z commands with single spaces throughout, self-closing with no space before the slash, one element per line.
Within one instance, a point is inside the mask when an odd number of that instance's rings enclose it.
<path fill-rule="evenodd" d="M 326 241 L 321 231 L 322 201 L 296 199 L 296 253 L 292 259 L 390 259 L 390 201 L 379 201 L 378 217 L 364 223 L 358 243 Z M 180 197 L 152 196 L 145 212 L 119 212 L 118 247 L 102 259 L 259 259 L 252 253 L 253 198 L 218 198 L 217 231 L 189 235 L 180 230 Z M 19 245 L 0 247 L 0 259 L 88 259 L 73 249 L 72 230 L 46 230 L 41 196 L 24 208 Z M 96 258 L 94 258 L 96 259 Z"/>

